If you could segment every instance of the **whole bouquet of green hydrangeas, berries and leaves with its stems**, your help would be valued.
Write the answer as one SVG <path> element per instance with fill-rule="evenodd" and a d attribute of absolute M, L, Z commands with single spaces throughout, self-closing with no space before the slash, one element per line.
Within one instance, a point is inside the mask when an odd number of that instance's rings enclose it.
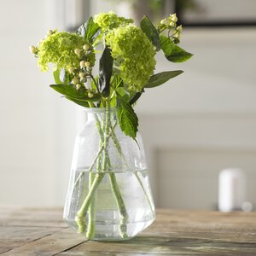
<path fill-rule="evenodd" d="M 183 73 L 174 70 L 154 74 L 155 55 L 161 51 L 166 60 L 172 62 L 187 61 L 192 56 L 177 46 L 181 32 L 182 26 L 177 26 L 175 14 L 161 20 L 156 26 L 144 16 L 140 27 L 137 27 L 133 20 L 109 12 L 90 17 L 76 32 L 49 30 L 37 47 L 30 46 L 43 72 L 49 70 L 49 63 L 53 64 L 55 84 L 49 85 L 52 89 L 84 108 L 104 108 L 106 112 L 103 120 L 96 120 L 99 150 L 88 168 L 90 172 L 96 166 L 96 172 L 91 173 L 87 196 L 75 216 L 79 232 L 86 233 L 89 238 L 94 237 L 95 233 L 92 212 L 96 189 L 106 170 L 111 167 L 109 139 L 113 139 L 119 156 L 125 162 L 124 153 L 114 134 L 115 126 L 119 125 L 125 136 L 137 142 L 135 103 L 145 91 Z M 96 48 L 102 50 L 98 73 L 94 70 L 96 52 L 99 51 Z M 110 120 L 111 108 L 116 109 L 117 120 L 114 123 Z M 83 173 L 73 183 L 73 190 Z M 127 237 L 126 223 L 129 216 L 114 174 L 110 180 L 121 216 L 120 234 L 121 237 Z"/>

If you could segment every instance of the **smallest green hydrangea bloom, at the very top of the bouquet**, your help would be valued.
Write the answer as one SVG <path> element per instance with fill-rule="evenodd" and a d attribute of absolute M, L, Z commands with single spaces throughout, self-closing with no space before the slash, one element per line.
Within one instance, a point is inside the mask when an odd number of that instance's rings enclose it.
<path fill-rule="evenodd" d="M 94 16 L 94 22 L 101 26 L 102 32 L 108 32 L 113 28 L 119 26 L 126 26 L 130 23 L 133 23 L 132 19 L 125 19 L 125 17 L 119 17 L 115 15 L 113 11 L 109 11 L 108 14 L 100 13 Z"/>

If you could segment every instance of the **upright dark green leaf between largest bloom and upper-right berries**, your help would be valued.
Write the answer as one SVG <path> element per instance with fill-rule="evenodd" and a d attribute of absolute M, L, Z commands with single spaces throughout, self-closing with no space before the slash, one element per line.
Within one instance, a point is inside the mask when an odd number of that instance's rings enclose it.
<path fill-rule="evenodd" d="M 151 22 L 151 20 L 148 19 L 147 16 L 144 16 L 143 20 L 141 20 L 141 28 L 148 37 L 148 39 L 152 42 L 152 44 L 154 44 L 156 50 L 160 50 L 159 33 L 157 32 L 153 23 Z"/>

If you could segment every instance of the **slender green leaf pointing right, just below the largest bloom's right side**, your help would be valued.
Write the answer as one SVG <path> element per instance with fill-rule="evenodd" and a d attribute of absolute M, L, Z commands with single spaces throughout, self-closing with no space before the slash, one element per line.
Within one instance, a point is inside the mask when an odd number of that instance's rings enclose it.
<path fill-rule="evenodd" d="M 183 73 L 182 70 L 165 71 L 161 73 L 156 73 L 150 77 L 148 83 L 144 86 L 145 88 L 153 88 L 159 86 L 160 84 L 166 83 L 169 79 L 177 77 L 179 74 Z"/>

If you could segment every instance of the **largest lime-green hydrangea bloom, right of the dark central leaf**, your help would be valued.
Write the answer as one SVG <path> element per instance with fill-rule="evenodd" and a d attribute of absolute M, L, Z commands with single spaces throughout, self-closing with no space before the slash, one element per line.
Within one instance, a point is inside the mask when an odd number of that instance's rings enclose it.
<path fill-rule="evenodd" d="M 155 49 L 137 26 L 121 26 L 108 32 L 106 43 L 119 62 L 120 76 L 132 91 L 142 91 L 153 74 Z"/>

